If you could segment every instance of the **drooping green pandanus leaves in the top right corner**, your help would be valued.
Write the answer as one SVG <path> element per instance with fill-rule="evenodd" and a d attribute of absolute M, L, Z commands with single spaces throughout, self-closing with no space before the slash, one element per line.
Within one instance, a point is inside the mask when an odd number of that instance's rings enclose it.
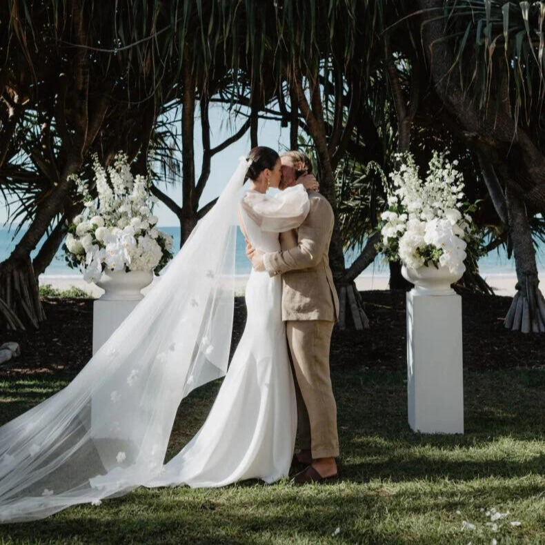
<path fill-rule="evenodd" d="M 457 52 L 453 74 L 482 108 L 511 108 L 541 133 L 545 99 L 545 3 L 456 0 L 444 3 L 445 39 Z M 504 88 L 506 86 L 506 88 Z"/>

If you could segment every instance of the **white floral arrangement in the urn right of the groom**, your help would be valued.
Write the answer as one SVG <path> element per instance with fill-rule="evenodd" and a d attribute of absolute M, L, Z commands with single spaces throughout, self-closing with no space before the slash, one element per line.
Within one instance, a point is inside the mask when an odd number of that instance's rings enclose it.
<path fill-rule="evenodd" d="M 464 202 L 462 172 L 455 168 L 458 161 L 450 163 L 444 154 L 434 152 L 422 180 L 412 155 L 400 159 L 402 164 L 390 173 L 392 184 L 386 188 L 388 210 L 381 215 L 382 240 L 377 249 L 388 261 L 402 261 L 408 268 L 433 264 L 463 274 L 466 250 L 475 255 L 479 238 L 467 213 L 475 205 Z"/>

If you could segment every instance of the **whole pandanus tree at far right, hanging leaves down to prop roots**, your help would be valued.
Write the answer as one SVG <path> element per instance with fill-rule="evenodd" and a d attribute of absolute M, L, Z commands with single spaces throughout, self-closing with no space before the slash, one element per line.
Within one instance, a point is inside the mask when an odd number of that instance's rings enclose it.
<path fill-rule="evenodd" d="M 475 152 L 517 270 L 505 325 L 545 332 L 532 218 L 545 210 L 543 24 L 535 2 L 417 0 L 434 90 Z"/>

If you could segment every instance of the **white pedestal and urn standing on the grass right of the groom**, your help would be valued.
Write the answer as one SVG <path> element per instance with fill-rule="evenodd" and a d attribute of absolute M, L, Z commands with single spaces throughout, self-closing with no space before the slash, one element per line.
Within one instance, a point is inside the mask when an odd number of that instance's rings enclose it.
<path fill-rule="evenodd" d="M 402 267 L 407 303 L 408 422 L 422 433 L 464 433 L 462 297 L 448 268 Z"/>

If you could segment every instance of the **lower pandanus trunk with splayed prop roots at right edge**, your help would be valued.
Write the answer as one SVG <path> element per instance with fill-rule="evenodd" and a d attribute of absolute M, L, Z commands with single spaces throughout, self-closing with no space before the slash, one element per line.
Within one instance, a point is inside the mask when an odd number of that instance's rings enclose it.
<path fill-rule="evenodd" d="M 509 232 L 513 240 L 517 293 L 509 308 L 505 326 L 522 333 L 545 333 L 545 299 L 537 287 L 537 265 L 532 232 L 522 200 L 508 186 L 506 190 Z"/>

